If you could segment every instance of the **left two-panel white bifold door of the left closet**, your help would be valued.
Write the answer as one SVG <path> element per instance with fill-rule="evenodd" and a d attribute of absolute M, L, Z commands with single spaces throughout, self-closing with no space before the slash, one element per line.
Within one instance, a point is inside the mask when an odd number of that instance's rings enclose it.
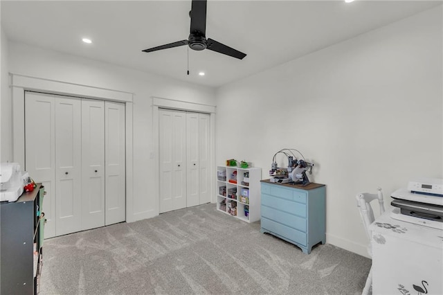
<path fill-rule="evenodd" d="M 45 237 L 82 229 L 80 99 L 26 92 L 26 170 L 47 192 Z"/>

